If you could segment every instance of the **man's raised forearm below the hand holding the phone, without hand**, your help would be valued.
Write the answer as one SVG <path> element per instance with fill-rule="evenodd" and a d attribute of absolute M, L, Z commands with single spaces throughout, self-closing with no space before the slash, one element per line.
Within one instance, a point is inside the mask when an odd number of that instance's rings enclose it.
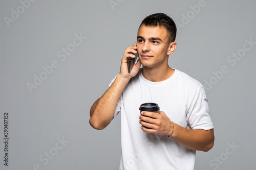
<path fill-rule="evenodd" d="M 117 76 L 108 90 L 93 104 L 90 111 L 90 124 L 95 129 L 104 129 L 114 117 L 117 102 L 129 79 Z"/>

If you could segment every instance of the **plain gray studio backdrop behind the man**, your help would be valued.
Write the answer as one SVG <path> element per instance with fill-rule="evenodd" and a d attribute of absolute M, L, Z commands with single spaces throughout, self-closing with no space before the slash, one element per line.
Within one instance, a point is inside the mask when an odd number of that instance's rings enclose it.
<path fill-rule="evenodd" d="M 118 169 L 120 115 L 89 125 L 142 19 L 178 27 L 170 66 L 201 82 L 215 145 L 195 169 L 254 169 L 255 1 L 0 2 L 0 169 Z"/>

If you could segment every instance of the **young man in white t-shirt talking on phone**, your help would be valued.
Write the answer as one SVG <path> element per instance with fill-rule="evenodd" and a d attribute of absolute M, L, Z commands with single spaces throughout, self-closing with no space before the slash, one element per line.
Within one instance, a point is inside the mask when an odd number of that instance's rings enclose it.
<path fill-rule="evenodd" d="M 168 65 L 176 30 L 166 14 L 147 16 L 137 42 L 124 51 L 119 74 L 91 108 L 95 129 L 104 129 L 121 113 L 119 169 L 194 169 L 196 150 L 207 152 L 214 145 L 203 86 Z M 127 62 L 136 53 L 139 59 L 129 74 Z M 147 102 L 158 103 L 160 113 L 140 114 Z"/>

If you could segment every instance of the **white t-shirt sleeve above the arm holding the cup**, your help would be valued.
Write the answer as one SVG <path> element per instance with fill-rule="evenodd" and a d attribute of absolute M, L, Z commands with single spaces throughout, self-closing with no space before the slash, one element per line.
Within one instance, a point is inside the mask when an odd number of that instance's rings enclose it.
<path fill-rule="evenodd" d="M 209 130 L 214 128 L 203 86 L 197 91 L 191 101 L 187 111 L 186 121 L 191 129 Z"/>

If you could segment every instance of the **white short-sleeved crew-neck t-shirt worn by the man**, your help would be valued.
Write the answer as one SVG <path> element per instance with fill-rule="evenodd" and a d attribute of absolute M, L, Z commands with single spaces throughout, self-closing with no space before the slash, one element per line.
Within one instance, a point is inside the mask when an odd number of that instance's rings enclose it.
<path fill-rule="evenodd" d="M 115 116 L 121 114 L 119 169 L 194 169 L 195 150 L 172 137 L 141 130 L 139 107 L 147 102 L 157 103 L 170 120 L 184 128 L 214 128 L 204 88 L 198 81 L 175 69 L 169 79 L 151 82 L 142 76 L 140 69 L 125 87 L 116 107 Z"/>

